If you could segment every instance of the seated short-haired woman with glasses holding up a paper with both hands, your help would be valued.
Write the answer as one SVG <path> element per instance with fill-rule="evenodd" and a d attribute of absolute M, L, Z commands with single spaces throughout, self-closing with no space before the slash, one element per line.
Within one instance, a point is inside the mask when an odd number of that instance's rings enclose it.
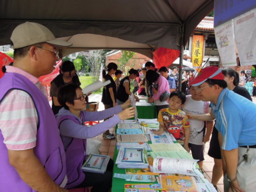
<path fill-rule="evenodd" d="M 64 148 L 68 183 L 66 188 L 83 188 L 93 186 L 92 191 L 108 192 L 112 184 L 113 160 L 110 159 L 104 174 L 83 172 L 81 167 L 88 157 L 86 154 L 86 139 L 96 137 L 121 120 L 134 117 L 135 110 L 131 101 L 103 111 L 85 111 L 86 102 L 82 89 L 75 84 L 60 87 L 58 101 L 63 107 L 57 115 Z M 97 121 L 108 118 L 100 124 L 87 127 L 85 121 Z"/>

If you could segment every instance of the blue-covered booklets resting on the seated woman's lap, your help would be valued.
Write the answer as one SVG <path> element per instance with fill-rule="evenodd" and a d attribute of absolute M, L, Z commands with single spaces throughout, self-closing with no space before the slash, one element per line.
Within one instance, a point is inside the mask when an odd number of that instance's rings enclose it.
<path fill-rule="evenodd" d="M 105 173 L 110 156 L 90 154 L 82 166 L 86 172 Z"/>

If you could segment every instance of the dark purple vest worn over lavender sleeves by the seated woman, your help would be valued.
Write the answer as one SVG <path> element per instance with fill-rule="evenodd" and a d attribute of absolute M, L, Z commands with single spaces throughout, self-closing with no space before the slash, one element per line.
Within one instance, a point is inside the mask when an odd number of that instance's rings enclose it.
<path fill-rule="evenodd" d="M 83 120 L 82 122 L 85 122 L 83 113 L 81 113 L 81 117 Z M 74 116 L 63 115 L 57 119 L 59 127 L 61 122 L 66 119 L 70 119 L 75 123 L 80 124 L 79 120 Z M 85 161 L 85 151 L 86 139 L 72 138 L 66 149 L 68 183 L 65 188 L 74 188 L 84 181 L 85 174 L 81 167 Z"/>

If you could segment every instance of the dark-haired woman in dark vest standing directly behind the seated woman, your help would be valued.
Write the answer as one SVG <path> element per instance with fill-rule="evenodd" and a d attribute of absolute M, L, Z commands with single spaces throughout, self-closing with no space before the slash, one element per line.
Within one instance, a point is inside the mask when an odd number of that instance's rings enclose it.
<path fill-rule="evenodd" d="M 65 61 L 60 66 L 60 74 L 56 76 L 51 82 L 50 96 L 52 97 L 52 111 L 56 115 L 62 108 L 57 100 L 57 92 L 61 85 L 74 83 L 81 85 L 76 69 L 71 61 Z"/>

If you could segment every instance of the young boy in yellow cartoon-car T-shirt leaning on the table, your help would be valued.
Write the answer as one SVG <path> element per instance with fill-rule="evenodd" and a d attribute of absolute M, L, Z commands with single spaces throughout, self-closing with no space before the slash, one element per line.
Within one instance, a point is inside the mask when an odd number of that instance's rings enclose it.
<path fill-rule="evenodd" d="M 188 116 L 179 108 L 186 101 L 186 95 L 180 91 L 174 91 L 170 94 L 169 108 L 164 108 L 159 111 L 157 121 L 159 130 L 154 133 L 162 135 L 164 129 L 171 133 L 174 138 L 187 150 L 190 136 Z"/>

